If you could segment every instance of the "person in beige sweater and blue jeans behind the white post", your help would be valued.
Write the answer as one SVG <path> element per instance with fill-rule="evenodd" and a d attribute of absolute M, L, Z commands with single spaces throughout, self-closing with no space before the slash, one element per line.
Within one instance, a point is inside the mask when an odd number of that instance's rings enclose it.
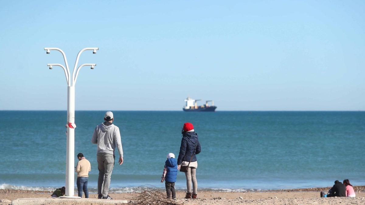
<path fill-rule="evenodd" d="M 87 160 L 82 153 L 78 153 L 77 155 L 77 192 L 78 196 L 82 197 L 82 191 L 85 193 L 85 198 L 89 198 L 89 191 L 88 191 L 88 178 L 89 178 L 89 171 L 91 170 L 91 165 L 89 160 Z"/>

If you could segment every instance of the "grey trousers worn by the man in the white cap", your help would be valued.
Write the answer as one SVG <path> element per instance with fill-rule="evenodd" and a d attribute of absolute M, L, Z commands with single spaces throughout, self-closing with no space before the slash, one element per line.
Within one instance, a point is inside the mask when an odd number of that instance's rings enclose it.
<path fill-rule="evenodd" d="M 97 194 L 103 194 L 103 197 L 107 197 L 115 156 L 107 153 L 97 153 L 96 158 L 97 169 L 99 170 L 99 178 L 97 179 Z M 103 193 L 101 193 L 101 187 L 103 187 Z"/>

